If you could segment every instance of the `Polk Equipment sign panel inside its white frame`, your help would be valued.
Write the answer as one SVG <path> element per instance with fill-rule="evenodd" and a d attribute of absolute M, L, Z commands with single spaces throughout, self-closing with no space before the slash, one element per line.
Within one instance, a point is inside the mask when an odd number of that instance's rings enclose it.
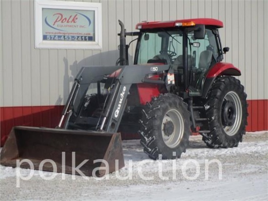
<path fill-rule="evenodd" d="M 95 41 L 95 11 L 42 9 L 43 40 Z"/>

